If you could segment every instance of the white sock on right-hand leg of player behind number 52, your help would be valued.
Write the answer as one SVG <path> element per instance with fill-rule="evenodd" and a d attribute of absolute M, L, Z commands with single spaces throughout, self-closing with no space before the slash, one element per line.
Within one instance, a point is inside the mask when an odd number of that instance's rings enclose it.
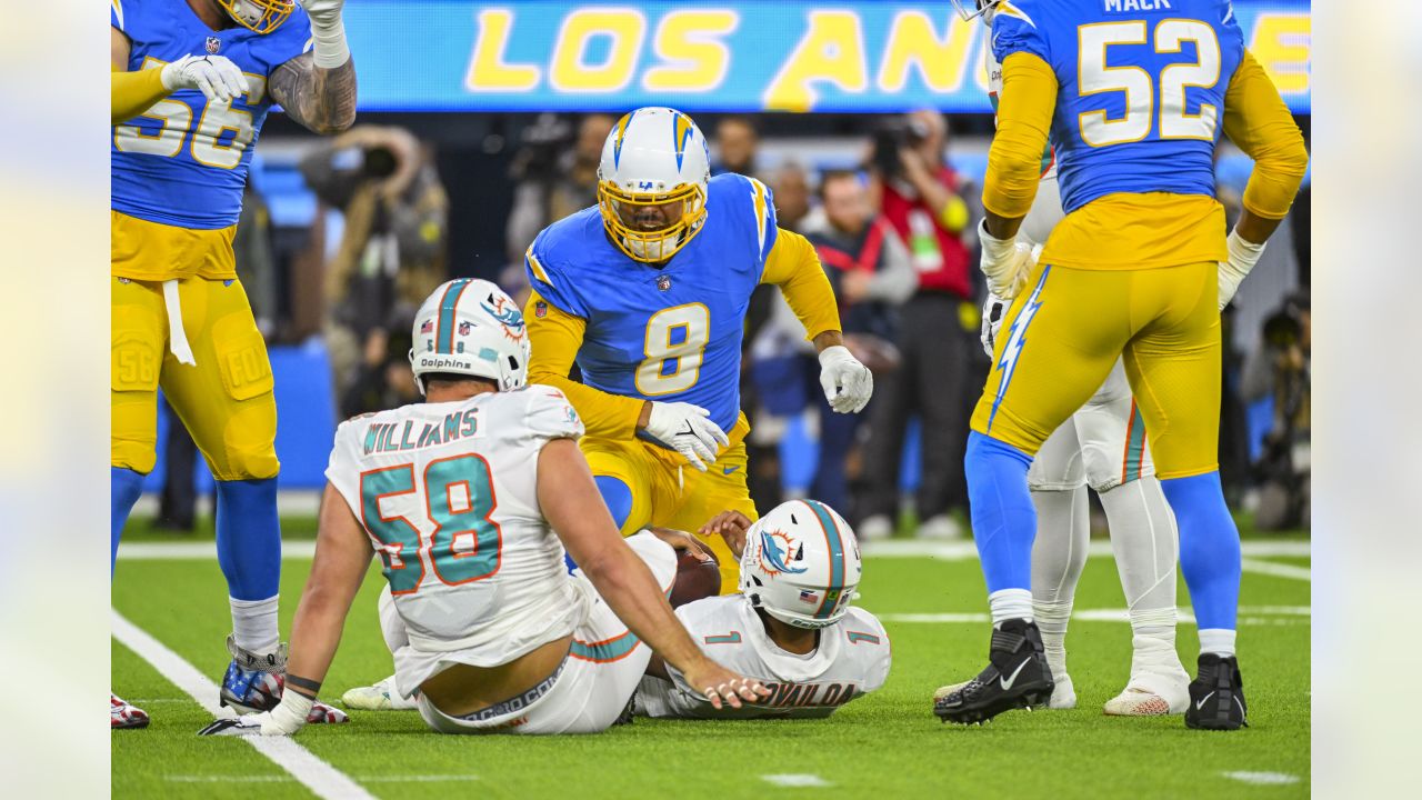
<path fill-rule="evenodd" d="M 1116 555 L 1126 608 L 1132 612 L 1169 611 L 1173 621 L 1179 545 L 1175 515 L 1160 491 L 1160 481 L 1145 477 L 1098 494 L 1111 524 L 1111 549 Z"/>

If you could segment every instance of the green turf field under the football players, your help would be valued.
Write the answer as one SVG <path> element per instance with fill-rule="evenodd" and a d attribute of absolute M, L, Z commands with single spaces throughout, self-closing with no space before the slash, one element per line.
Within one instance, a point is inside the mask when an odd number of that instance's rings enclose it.
<path fill-rule="evenodd" d="M 1102 716 L 1101 705 L 1128 676 L 1129 626 L 1085 619 L 1068 638 L 1078 709 L 1011 712 L 983 727 L 940 725 L 930 710 L 933 689 L 981 668 L 987 623 L 897 615 L 984 612 L 978 565 L 870 557 L 859 605 L 884 618 L 893 670 L 880 692 L 829 720 L 638 719 L 599 736 L 538 740 L 439 736 L 417 712 L 354 712 L 350 725 L 307 727 L 296 742 L 375 797 L 1305 797 L 1311 618 L 1310 581 L 1297 572 L 1308 559 L 1254 559 L 1295 569 L 1244 574 L 1240 652 L 1251 727 L 1239 733 L 1186 730 L 1180 717 Z M 284 562 L 283 633 L 309 568 L 300 558 Z M 391 670 L 375 621 L 380 581 L 371 571 L 347 622 L 323 692 L 328 700 Z M 1186 605 L 1183 585 L 1180 598 Z M 114 606 L 209 680 L 220 679 L 230 626 L 215 561 L 124 558 Z M 1076 609 L 1123 609 L 1109 558 L 1088 561 Z M 1190 672 L 1194 648 L 1193 625 L 1182 623 L 1179 649 Z M 112 658 L 114 690 L 152 715 L 146 730 L 112 735 L 115 797 L 311 796 L 247 742 L 195 736 L 208 712 L 118 642 Z M 816 786 L 785 787 L 764 776 Z"/>

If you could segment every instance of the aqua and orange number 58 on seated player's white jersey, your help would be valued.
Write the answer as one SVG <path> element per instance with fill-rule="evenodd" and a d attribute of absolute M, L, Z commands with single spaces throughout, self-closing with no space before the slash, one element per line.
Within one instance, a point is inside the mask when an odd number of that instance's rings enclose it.
<path fill-rule="evenodd" d="M 425 515 L 435 527 L 428 541 L 402 515 L 387 515 L 380 501 L 424 494 Z M 390 594 L 419 589 L 429 562 L 441 584 L 482 581 L 499 571 L 503 534 L 491 517 L 498 507 L 489 463 L 479 456 L 431 461 L 417 484 L 412 464 L 371 470 L 360 477 L 361 524 L 378 542 Z"/>

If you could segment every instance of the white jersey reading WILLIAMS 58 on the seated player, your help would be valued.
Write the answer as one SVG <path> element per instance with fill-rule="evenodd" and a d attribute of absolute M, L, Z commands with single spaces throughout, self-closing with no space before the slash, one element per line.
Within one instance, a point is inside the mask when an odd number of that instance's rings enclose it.
<path fill-rule="evenodd" d="M 538 502 L 543 444 L 582 434 L 547 386 L 417 403 L 337 428 L 326 477 L 370 535 L 414 649 L 498 666 L 582 622 L 590 601 Z M 395 668 L 401 685 L 422 680 L 401 670 L 401 653 Z"/>

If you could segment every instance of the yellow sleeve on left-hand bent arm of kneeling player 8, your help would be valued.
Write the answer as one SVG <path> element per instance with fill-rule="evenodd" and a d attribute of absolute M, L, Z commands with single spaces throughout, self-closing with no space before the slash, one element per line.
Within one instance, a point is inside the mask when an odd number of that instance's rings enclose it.
<path fill-rule="evenodd" d="M 634 436 L 644 400 L 609 394 L 567 377 L 577 349 L 583 344 L 587 320 L 549 303 L 536 288 L 529 292 L 523 306 L 523 320 L 533 349 L 529 383 L 552 386 L 566 394 L 589 434 L 614 438 Z"/>

